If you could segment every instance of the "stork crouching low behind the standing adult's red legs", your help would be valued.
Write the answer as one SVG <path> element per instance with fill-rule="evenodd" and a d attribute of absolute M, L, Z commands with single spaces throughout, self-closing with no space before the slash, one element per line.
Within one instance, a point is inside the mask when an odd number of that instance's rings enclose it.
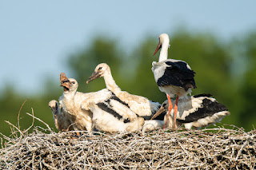
<path fill-rule="evenodd" d="M 162 103 L 161 108 L 154 117 L 157 117 L 160 113 L 166 113 L 168 108 L 168 101 L 166 100 Z M 178 99 L 178 113 L 176 117 L 178 122 L 174 128 L 178 128 L 178 125 L 184 125 L 187 129 L 192 127 L 202 128 L 221 121 L 227 115 L 230 115 L 230 112 L 226 106 L 218 103 L 210 94 L 182 97 Z M 171 110 L 171 117 L 174 117 L 174 109 Z M 174 126 L 173 119 L 165 117 L 165 120 L 168 122 L 167 127 Z"/>

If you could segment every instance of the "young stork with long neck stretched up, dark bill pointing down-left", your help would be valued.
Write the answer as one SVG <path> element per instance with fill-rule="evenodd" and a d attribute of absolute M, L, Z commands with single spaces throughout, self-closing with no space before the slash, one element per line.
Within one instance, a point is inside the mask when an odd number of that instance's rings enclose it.
<path fill-rule="evenodd" d="M 122 91 L 115 83 L 110 71 L 110 66 L 106 63 L 97 65 L 94 69 L 94 73 L 92 73 L 86 83 L 88 84 L 98 77 L 103 77 L 106 83 L 106 89 L 112 91 L 121 101 L 129 105 L 130 109 L 138 114 L 139 117 L 144 117 L 146 120 L 149 120 L 161 106 L 158 102 L 150 101 L 146 97 Z"/>

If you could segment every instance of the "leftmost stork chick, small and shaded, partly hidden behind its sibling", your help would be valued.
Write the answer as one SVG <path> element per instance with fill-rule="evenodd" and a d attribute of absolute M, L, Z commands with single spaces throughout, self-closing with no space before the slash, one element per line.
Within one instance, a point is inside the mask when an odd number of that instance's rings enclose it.
<path fill-rule="evenodd" d="M 74 130 L 70 117 L 61 111 L 58 101 L 50 101 L 49 106 L 53 113 L 54 125 L 59 131 Z"/>

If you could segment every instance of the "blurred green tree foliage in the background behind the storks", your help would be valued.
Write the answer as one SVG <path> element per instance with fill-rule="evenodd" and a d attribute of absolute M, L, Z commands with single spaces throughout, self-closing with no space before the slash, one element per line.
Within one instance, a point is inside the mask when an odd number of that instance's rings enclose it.
<path fill-rule="evenodd" d="M 250 33 L 240 38 L 224 42 L 214 34 L 190 33 L 178 30 L 170 35 L 169 58 L 187 61 L 196 72 L 195 81 L 198 89 L 193 94 L 211 93 L 226 105 L 230 116 L 222 120 L 222 124 L 243 127 L 246 130 L 256 125 L 256 33 Z M 72 53 L 66 64 L 79 82 L 78 91 L 91 92 L 105 88 L 102 78 L 86 85 L 86 80 L 94 72 L 96 65 L 106 62 L 110 65 L 114 80 L 122 90 L 148 97 L 152 101 L 166 100 L 166 95 L 158 90 L 151 72 L 151 62 L 158 61 L 158 53 L 153 57 L 158 44 L 157 37 L 144 38 L 131 53 L 120 47 L 118 40 L 108 37 L 95 37 L 89 46 Z M 26 113 L 32 113 L 50 127 L 54 127 L 48 102 L 58 100 L 62 89 L 58 87 L 59 80 L 47 80 L 42 95 L 30 97 L 20 112 L 21 128 L 28 128 L 32 118 Z M 1 123 L 3 134 L 9 135 L 10 128 L 4 121 L 17 125 L 17 117 L 25 95 L 7 86 L 0 98 Z M 33 111 L 32 111 L 33 109 Z M 43 127 L 35 121 L 35 125 Z M 218 124 L 219 125 L 219 124 Z"/>

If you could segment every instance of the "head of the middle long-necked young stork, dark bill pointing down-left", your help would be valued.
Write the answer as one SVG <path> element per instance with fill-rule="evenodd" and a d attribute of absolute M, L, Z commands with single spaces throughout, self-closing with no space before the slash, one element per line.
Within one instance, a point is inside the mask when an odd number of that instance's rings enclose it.
<path fill-rule="evenodd" d="M 90 81 L 93 81 L 94 79 L 98 77 L 104 77 L 105 73 L 110 72 L 110 66 L 107 65 L 106 63 L 101 63 L 96 66 L 94 69 L 94 73 L 91 74 L 91 76 L 88 78 L 86 83 L 88 84 Z"/>

